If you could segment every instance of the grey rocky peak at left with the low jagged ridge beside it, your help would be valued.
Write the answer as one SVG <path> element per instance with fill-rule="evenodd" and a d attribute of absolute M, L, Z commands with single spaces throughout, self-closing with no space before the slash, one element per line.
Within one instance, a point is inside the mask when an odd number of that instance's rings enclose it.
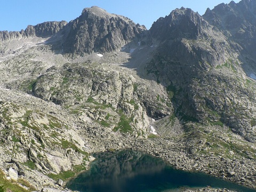
<path fill-rule="evenodd" d="M 56 42 L 55 50 L 70 55 L 83 55 L 92 52 L 117 51 L 144 30 L 146 30 L 145 26 L 136 25 L 126 17 L 110 14 L 93 6 L 84 9 L 80 17 L 69 23 L 66 21 L 44 22 L 36 26 L 28 26 L 20 32 L 0 31 L 0 38 L 2 41 L 7 41 L 56 35 L 57 37 L 53 37 Z"/>

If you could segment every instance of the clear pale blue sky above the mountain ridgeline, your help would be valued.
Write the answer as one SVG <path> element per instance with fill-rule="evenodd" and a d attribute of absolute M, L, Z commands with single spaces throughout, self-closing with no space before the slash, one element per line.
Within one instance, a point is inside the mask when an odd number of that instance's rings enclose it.
<path fill-rule="evenodd" d="M 85 7 L 93 5 L 109 13 L 124 15 L 147 29 L 159 17 L 165 17 L 181 6 L 204 14 L 207 7 L 213 9 L 231 0 L 8 0 L 0 5 L 0 30 L 20 31 L 28 25 L 44 21 L 70 21 L 81 15 Z M 234 0 L 238 3 L 240 0 Z"/>

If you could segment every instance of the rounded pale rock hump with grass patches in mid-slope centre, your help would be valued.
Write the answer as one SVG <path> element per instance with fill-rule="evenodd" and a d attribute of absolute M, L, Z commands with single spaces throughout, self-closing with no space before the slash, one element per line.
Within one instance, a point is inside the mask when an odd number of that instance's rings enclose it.
<path fill-rule="evenodd" d="M 83 111 L 115 131 L 143 137 L 148 134 L 150 118 L 171 114 L 171 102 L 163 87 L 99 65 L 66 63 L 62 68 L 52 67 L 36 80 L 32 92 L 38 98 Z"/>

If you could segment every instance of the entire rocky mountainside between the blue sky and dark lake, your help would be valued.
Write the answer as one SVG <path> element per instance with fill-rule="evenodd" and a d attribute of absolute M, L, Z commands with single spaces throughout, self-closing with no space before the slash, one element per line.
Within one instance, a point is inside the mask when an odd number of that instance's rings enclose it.
<path fill-rule="evenodd" d="M 253 7 L 181 7 L 146 30 L 94 6 L 2 31 L 1 169 L 60 191 L 91 154 L 130 148 L 255 187 Z"/>

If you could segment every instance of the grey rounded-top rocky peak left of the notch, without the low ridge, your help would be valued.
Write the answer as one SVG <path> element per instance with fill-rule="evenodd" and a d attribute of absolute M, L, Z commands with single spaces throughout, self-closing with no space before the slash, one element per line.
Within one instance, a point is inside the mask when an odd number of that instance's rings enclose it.
<path fill-rule="evenodd" d="M 84 9 L 68 27 L 63 51 L 78 55 L 117 51 L 146 30 L 145 26 L 96 6 Z"/>

